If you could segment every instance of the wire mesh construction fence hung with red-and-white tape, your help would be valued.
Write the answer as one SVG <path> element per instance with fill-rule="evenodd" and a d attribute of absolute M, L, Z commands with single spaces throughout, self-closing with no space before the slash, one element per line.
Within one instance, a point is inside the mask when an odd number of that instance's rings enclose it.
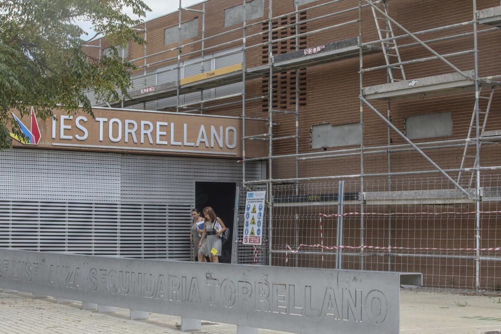
<path fill-rule="evenodd" d="M 256 249 L 239 244 L 238 263 L 335 268 L 341 249 L 344 269 L 422 272 L 424 286 L 454 290 L 476 289 L 478 278 L 481 290 L 500 291 L 499 183 L 497 175 L 482 179 L 478 231 L 474 200 L 445 178 L 366 180 L 363 194 L 359 181 L 348 180 L 341 212 L 338 182 L 273 185 L 273 244 L 266 240 Z M 239 219 L 240 238 L 242 228 Z"/>

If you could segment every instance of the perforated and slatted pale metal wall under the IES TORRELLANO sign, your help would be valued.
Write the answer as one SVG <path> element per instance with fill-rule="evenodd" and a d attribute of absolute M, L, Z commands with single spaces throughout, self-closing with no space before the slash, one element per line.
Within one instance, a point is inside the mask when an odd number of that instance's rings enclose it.
<path fill-rule="evenodd" d="M 0 152 L 0 179 L 0 247 L 188 260 L 194 180 L 239 184 L 241 165 L 17 149 Z"/>

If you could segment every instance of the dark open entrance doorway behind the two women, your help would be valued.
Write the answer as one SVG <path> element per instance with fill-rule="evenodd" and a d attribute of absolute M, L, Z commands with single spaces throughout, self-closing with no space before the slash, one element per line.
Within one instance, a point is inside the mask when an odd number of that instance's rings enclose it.
<path fill-rule="evenodd" d="M 195 207 L 200 211 L 211 206 L 216 215 L 233 235 L 233 210 L 235 206 L 236 184 L 234 182 L 195 182 Z M 231 237 L 222 246 L 219 262 L 231 262 Z"/>

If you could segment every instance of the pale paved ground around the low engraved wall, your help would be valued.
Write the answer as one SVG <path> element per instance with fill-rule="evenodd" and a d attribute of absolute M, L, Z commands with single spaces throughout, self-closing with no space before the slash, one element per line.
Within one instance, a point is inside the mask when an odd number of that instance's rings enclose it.
<path fill-rule="evenodd" d="M 0 333 L 168 333 L 180 334 L 179 317 L 150 313 L 129 320 L 129 310 L 82 310 L 81 303 L 57 304 L 28 293 L 0 292 Z M 423 289 L 400 290 L 401 333 L 501 333 L 501 296 L 479 296 Z M 283 332 L 260 329 L 261 334 Z M 202 320 L 196 334 L 236 333 L 236 326 Z"/>

